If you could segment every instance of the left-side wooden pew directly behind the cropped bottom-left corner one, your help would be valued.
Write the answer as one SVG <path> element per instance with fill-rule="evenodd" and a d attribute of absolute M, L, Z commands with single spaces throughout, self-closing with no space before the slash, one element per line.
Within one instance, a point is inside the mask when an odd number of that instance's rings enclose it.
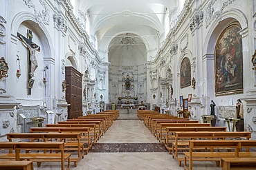
<path fill-rule="evenodd" d="M 1 153 L 1 159 L 32 160 L 40 167 L 42 162 L 61 162 L 61 169 L 65 169 L 65 161 L 68 162 L 66 169 L 71 169 L 71 153 L 64 153 L 64 142 L 0 142 L 0 149 L 12 149 L 15 153 Z M 24 151 L 60 151 L 60 153 L 21 153 Z"/>

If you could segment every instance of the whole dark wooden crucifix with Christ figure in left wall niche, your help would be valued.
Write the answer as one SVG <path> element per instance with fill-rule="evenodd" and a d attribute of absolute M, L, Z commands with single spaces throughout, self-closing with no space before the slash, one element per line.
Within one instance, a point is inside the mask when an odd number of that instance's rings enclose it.
<path fill-rule="evenodd" d="M 27 47 L 28 49 L 28 86 L 27 91 L 28 95 L 31 95 L 31 89 L 33 88 L 35 80 L 33 79 L 34 72 L 38 67 L 37 59 L 35 57 L 35 51 L 40 52 L 40 47 L 33 43 L 33 34 L 31 30 L 27 31 L 27 37 L 19 34 L 17 32 L 17 36 L 19 37 L 19 40 L 21 43 Z"/>

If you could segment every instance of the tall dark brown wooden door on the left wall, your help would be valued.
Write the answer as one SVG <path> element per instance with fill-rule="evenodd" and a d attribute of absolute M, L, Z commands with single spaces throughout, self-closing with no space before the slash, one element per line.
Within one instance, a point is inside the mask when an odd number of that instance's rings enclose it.
<path fill-rule="evenodd" d="M 65 67 L 68 118 L 82 116 L 82 74 L 73 67 Z"/>

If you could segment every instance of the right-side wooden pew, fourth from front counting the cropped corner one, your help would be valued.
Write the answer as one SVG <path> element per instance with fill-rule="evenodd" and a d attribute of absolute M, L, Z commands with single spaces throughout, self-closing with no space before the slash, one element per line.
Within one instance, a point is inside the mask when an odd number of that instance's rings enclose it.
<path fill-rule="evenodd" d="M 164 136 L 165 148 L 171 153 L 174 134 L 179 131 L 227 131 L 227 127 L 166 127 L 167 135 Z M 170 146 L 171 145 L 171 146 Z"/>

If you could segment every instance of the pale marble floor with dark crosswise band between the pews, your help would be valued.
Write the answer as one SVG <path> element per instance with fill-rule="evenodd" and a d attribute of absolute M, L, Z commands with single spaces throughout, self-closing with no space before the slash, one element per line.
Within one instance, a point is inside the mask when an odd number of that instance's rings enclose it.
<path fill-rule="evenodd" d="M 59 162 L 42 163 L 34 169 L 60 169 Z M 136 110 L 120 111 L 120 117 L 78 162 L 75 170 L 181 170 L 178 162 L 138 120 Z M 194 162 L 194 170 L 220 170 L 214 162 Z"/>

